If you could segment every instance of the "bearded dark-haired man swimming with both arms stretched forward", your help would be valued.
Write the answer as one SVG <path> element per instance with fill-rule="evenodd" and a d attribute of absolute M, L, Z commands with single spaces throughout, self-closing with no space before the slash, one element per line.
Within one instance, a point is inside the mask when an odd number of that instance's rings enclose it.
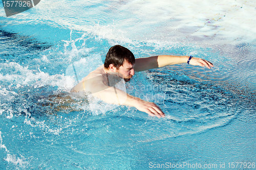
<path fill-rule="evenodd" d="M 181 63 L 206 66 L 209 69 L 214 66 L 204 59 L 192 56 L 161 55 L 135 59 L 130 50 L 121 45 L 115 45 L 106 54 L 104 64 L 82 79 L 81 82 L 71 89 L 71 92 L 91 92 L 93 96 L 106 103 L 132 106 L 146 112 L 148 115 L 164 117 L 163 111 L 155 103 L 141 100 L 110 85 L 110 75 L 115 74 L 127 82 L 134 76 L 135 71 L 144 71 Z"/>

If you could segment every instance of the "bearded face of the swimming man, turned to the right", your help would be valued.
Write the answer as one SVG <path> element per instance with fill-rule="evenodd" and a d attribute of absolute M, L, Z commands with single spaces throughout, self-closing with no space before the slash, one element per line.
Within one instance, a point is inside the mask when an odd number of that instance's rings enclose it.
<path fill-rule="evenodd" d="M 134 76 L 135 72 L 134 72 L 134 65 L 135 64 L 131 64 L 127 61 L 123 62 L 123 65 L 121 65 L 119 67 L 119 69 L 116 70 L 116 72 L 119 72 L 120 74 L 122 74 L 123 79 L 125 82 L 128 82 L 131 80 L 131 78 Z"/>

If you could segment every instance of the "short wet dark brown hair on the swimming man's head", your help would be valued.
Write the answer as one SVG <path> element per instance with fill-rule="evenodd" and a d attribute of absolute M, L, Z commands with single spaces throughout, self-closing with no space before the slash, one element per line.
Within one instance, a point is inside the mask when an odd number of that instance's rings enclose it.
<path fill-rule="evenodd" d="M 121 45 L 115 45 L 112 46 L 109 52 L 106 54 L 104 67 L 109 68 L 110 64 L 113 64 L 117 69 L 119 69 L 125 60 L 131 64 L 134 64 L 135 57 L 133 53 Z"/>

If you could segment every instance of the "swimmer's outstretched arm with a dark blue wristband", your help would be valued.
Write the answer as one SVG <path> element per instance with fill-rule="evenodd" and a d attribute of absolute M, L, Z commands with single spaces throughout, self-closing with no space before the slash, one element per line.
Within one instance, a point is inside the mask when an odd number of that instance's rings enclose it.
<path fill-rule="evenodd" d="M 153 68 L 160 68 L 167 65 L 174 65 L 174 64 L 181 64 L 186 63 L 189 59 L 189 56 L 169 56 L 169 55 L 161 55 L 161 56 L 153 56 L 153 57 L 146 57 L 146 58 L 138 58 L 135 61 L 135 71 L 144 71 Z M 191 65 L 199 65 L 199 66 L 206 66 L 207 68 L 211 68 L 214 65 L 209 61 L 200 59 L 200 58 L 191 58 L 189 64 Z"/>

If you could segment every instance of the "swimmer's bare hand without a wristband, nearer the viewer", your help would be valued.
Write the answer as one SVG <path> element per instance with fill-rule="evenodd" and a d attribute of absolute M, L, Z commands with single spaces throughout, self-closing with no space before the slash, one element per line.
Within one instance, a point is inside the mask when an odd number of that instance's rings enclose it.
<path fill-rule="evenodd" d="M 153 102 L 146 102 L 138 99 L 135 106 L 139 111 L 146 112 L 150 116 L 164 117 L 163 111 Z"/>

